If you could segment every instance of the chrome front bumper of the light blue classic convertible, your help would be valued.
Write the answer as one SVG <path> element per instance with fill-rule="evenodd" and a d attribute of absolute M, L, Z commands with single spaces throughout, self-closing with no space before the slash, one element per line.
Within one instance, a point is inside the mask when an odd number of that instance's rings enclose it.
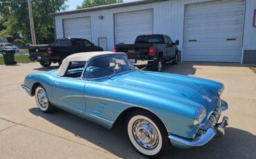
<path fill-rule="evenodd" d="M 226 111 L 228 109 L 228 104 L 225 101 L 221 101 L 221 110 Z M 203 135 L 194 140 L 189 140 L 186 138 L 179 137 L 177 135 L 168 135 L 168 138 L 171 142 L 175 144 L 180 144 L 181 146 L 187 147 L 201 147 L 217 134 L 217 131 L 221 132 L 222 135 L 225 135 L 225 127 L 228 126 L 228 117 L 224 116 L 222 122 L 219 124 L 215 124 L 212 127 L 209 127 Z"/>

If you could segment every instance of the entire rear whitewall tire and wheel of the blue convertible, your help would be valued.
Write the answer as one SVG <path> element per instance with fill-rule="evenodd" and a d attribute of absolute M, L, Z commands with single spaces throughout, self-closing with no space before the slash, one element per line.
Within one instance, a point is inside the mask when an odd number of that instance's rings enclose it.
<path fill-rule="evenodd" d="M 53 111 L 53 106 L 48 99 L 48 95 L 41 85 L 37 86 L 35 89 L 35 102 L 37 103 L 38 108 L 44 113 Z"/>

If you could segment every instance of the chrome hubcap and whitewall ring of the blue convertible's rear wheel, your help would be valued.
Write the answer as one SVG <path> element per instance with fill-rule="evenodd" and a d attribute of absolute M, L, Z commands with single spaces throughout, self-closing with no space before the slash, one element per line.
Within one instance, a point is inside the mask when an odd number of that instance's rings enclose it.
<path fill-rule="evenodd" d="M 39 109 L 42 111 L 46 111 L 48 109 L 49 100 L 46 91 L 44 91 L 44 88 L 37 87 L 35 91 L 35 100 Z"/>

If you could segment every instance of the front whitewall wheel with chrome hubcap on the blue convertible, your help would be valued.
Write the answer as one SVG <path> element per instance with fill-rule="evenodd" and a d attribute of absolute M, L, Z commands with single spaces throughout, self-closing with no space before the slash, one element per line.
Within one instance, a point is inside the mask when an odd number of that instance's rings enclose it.
<path fill-rule="evenodd" d="M 129 115 L 127 132 L 134 148 L 147 157 L 156 157 L 167 149 L 169 142 L 163 123 L 147 111 Z"/>

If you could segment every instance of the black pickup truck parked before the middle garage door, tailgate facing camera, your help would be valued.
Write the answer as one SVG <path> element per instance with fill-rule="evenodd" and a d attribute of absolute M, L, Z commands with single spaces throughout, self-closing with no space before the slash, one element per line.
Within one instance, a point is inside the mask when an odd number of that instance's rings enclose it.
<path fill-rule="evenodd" d="M 114 52 L 122 52 L 134 66 L 152 66 L 162 71 L 164 63 L 177 64 L 179 40 L 172 41 L 167 35 L 139 35 L 134 44 L 116 44 Z"/>

